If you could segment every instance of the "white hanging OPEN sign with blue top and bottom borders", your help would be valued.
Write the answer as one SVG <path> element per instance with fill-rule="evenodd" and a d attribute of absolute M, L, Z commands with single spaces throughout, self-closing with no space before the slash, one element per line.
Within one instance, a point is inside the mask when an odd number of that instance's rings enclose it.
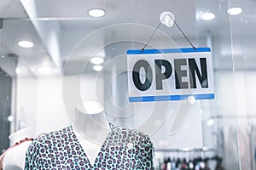
<path fill-rule="evenodd" d="M 211 48 L 127 51 L 130 102 L 214 99 Z"/>

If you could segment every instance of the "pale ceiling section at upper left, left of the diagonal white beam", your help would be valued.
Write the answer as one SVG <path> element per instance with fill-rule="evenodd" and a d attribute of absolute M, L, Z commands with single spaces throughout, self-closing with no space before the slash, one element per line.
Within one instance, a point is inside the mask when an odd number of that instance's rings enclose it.
<path fill-rule="evenodd" d="M 0 53 L 8 57 L 15 54 L 19 58 L 20 69 L 38 77 L 38 67 L 42 65 L 54 66 L 49 53 L 38 32 L 27 20 L 27 14 L 20 1 L 1 0 L 0 16 L 3 17 L 3 28 L 0 29 Z M 20 48 L 18 42 L 29 40 L 34 43 L 32 48 Z"/>

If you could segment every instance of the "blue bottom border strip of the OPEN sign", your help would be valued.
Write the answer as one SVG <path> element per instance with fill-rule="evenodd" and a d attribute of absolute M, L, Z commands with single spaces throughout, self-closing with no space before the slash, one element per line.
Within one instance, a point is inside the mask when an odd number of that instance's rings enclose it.
<path fill-rule="evenodd" d="M 187 100 L 190 96 L 193 96 L 195 99 L 214 99 L 214 94 L 185 94 L 185 95 L 129 97 L 129 101 L 130 102 L 149 102 L 149 101 Z"/>

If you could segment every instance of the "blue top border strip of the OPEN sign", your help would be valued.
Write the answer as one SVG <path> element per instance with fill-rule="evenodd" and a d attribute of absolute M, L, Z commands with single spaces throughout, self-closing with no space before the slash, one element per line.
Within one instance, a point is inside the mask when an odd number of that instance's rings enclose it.
<path fill-rule="evenodd" d="M 129 49 L 126 54 L 172 54 L 211 52 L 211 48 Z"/>

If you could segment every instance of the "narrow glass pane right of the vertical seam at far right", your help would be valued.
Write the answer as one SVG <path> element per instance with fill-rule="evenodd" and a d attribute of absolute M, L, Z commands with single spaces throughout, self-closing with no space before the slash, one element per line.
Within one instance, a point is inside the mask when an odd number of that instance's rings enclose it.
<path fill-rule="evenodd" d="M 241 169 L 255 169 L 255 2 L 230 0 Z"/>

